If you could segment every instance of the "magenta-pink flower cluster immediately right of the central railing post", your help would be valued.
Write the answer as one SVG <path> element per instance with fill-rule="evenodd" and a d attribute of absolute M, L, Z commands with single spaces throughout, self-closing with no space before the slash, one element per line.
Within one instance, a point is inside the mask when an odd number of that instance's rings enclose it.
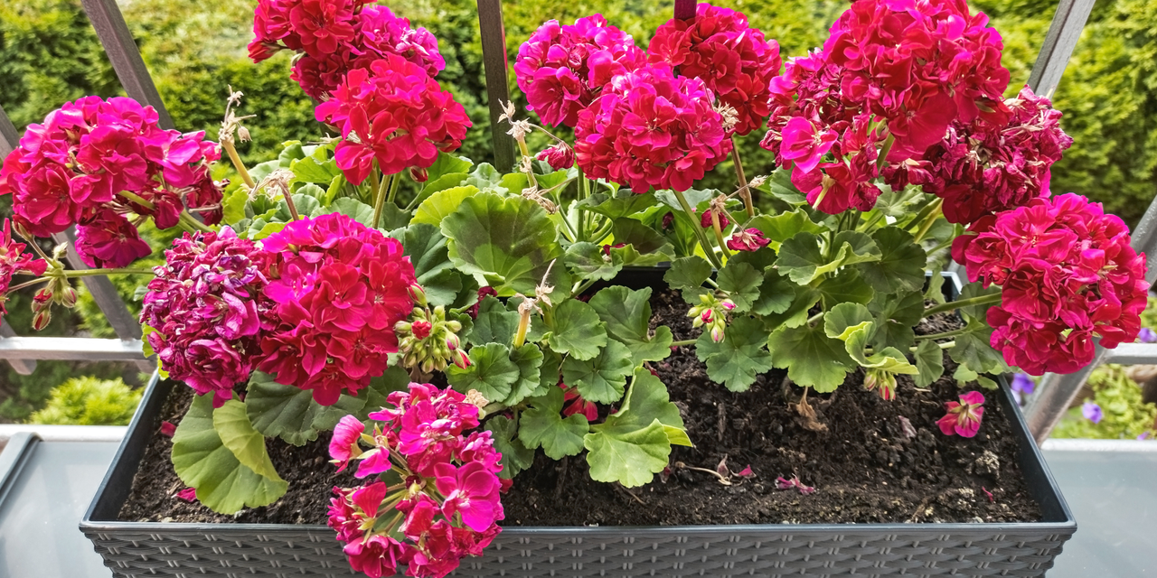
<path fill-rule="evenodd" d="M 611 79 L 646 61 L 631 35 L 596 14 L 569 25 L 547 21 L 518 49 L 514 72 L 543 123 L 575 127 Z"/>

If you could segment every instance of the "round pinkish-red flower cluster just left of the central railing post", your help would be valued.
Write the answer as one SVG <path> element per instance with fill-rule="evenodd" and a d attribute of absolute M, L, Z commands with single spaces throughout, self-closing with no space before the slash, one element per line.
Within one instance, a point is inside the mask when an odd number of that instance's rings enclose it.
<path fill-rule="evenodd" d="M 439 151 L 460 147 L 471 126 L 449 91 L 397 54 L 351 71 L 316 116 L 341 129 L 334 158 L 355 184 L 366 180 L 374 161 L 385 175 L 429 168 Z"/>

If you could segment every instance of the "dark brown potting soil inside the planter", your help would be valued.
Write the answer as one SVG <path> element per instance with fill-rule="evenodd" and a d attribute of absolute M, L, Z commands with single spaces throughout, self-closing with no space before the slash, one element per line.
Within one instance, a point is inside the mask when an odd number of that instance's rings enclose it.
<path fill-rule="evenodd" d="M 651 326 L 666 325 L 675 339 L 698 336 L 677 291 L 651 297 Z M 959 327 L 951 314 L 924 320 L 916 333 Z M 955 363 L 945 355 L 945 375 Z M 790 403 L 801 388 L 786 371 L 759 376 L 751 390 L 729 392 L 707 378 L 694 349 L 681 347 L 653 364 L 679 407 L 694 447 L 673 447 L 670 475 L 640 488 L 595 482 L 581 457 L 553 461 L 538 452 L 535 465 L 515 479 L 502 497 L 506 526 L 643 526 L 824 523 L 1011 523 L 1040 519 L 1017 464 L 1012 424 L 996 392 L 985 392 L 983 422 L 974 438 L 945 436 L 936 427 L 944 401 L 959 390 L 951 377 L 916 388 L 899 376 L 897 399 L 884 401 L 860 385 L 861 371 L 827 395 L 810 397 L 816 421 Z M 176 423 L 190 390 L 177 386 L 161 412 Z M 907 418 L 915 436 L 905 435 Z M 160 428 L 160 420 L 155 428 Z M 349 472 L 334 475 L 326 462 L 327 433 L 303 447 L 266 442 L 274 466 L 289 482 L 277 503 L 221 516 L 174 497 L 184 486 L 169 461 L 171 439 L 155 436 L 133 481 L 120 519 L 131 521 L 325 524 L 334 486 L 351 487 Z M 730 472 L 750 466 L 754 476 L 723 486 L 709 473 L 725 459 Z M 816 488 L 810 495 L 779 490 L 776 477 L 797 476 Z M 664 480 L 665 477 L 665 480 Z"/>

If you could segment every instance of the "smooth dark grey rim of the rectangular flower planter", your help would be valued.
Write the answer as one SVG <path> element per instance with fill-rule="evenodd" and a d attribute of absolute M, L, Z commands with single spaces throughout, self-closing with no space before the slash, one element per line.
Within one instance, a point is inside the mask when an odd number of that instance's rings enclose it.
<path fill-rule="evenodd" d="M 638 269 L 648 269 L 647 267 L 638 267 Z M 661 269 L 661 267 L 655 267 L 655 269 Z M 930 274 L 930 273 L 929 273 Z M 957 291 L 960 289 L 960 279 L 953 272 L 942 272 L 942 274 L 952 281 Z M 1040 496 L 1033 496 L 1041 507 L 1042 518 L 1053 518 L 1048 521 L 1023 521 L 1023 523 L 884 523 L 884 524 L 743 524 L 743 525 L 680 525 L 680 526 L 503 526 L 502 534 L 511 538 L 517 536 L 533 536 L 533 535 L 552 535 L 552 534 L 566 534 L 575 536 L 599 536 L 607 534 L 621 534 L 624 532 L 633 533 L 647 533 L 648 535 L 683 535 L 688 532 L 697 534 L 760 534 L 760 533 L 793 533 L 793 534 L 841 534 L 841 535 L 854 535 L 857 533 L 872 533 L 872 534 L 897 534 L 905 535 L 911 533 L 928 533 L 930 531 L 953 533 L 953 534 L 993 534 L 995 533 L 1016 533 L 1023 531 L 1041 532 L 1041 531 L 1055 531 L 1057 534 L 1071 534 L 1076 531 L 1077 524 L 1073 517 L 1073 511 L 1069 509 L 1068 503 L 1064 501 L 1064 496 L 1061 494 L 1060 488 L 1056 484 L 1056 480 L 1053 477 L 1053 473 L 1048 469 L 1048 464 L 1045 461 L 1044 454 L 1040 447 L 1037 445 L 1032 435 L 1029 432 L 1029 427 L 1024 421 L 1024 415 L 1020 412 L 1019 406 L 1012 398 L 1011 390 L 1009 388 L 1008 381 L 1004 376 L 1000 376 L 1000 390 L 996 395 L 997 400 L 1007 410 L 1009 410 L 1009 420 L 1014 424 L 1014 435 L 1019 438 L 1022 444 L 1020 452 L 1029 453 L 1031 459 L 1037 464 L 1040 464 L 1041 470 L 1038 476 L 1031 476 L 1029 472 L 1022 470 L 1022 475 L 1025 476 L 1026 483 L 1031 487 L 1039 486 L 1048 492 L 1047 497 L 1055 497 L 1056 503 L 1044 504 Z M 93 496 L 93 501 L 86 510 L 83 518 L 80 521 L 80 529 L 87 533 L 101 533 L 103 531 L 139 531 L 142 534 L 154 534 L 157 532 L 174 533 L 174 532 L 187 532 L 187 533 L 237 533 L 237 534 L 257 534 L 261 532 L 270 531 L 294 531 L 301 533 L 329 533 L 332 529 L 329 526 L 320 524 L 310 525 L 297 525 L 297 524 L 206 524 L 206 523 L 159 523 L 159 521 L 123 521 L 123 520 L 96 520 L 94 519 L 96 514 L 96 509 L 101 505 L 101 498 L 104 496 L 105 491 L 112 484 L 112 477 L 116 473 L 117 465 L 120 464 L 125 453 L 130 450 L 132 442 L 132 432 L 138 431 L 141 427 L 147 427 L 143 424 L 146 418 L 152 420 L 153 416 L 145 416 L 147 409 L 154 403 L 161 403 L 164 400 L 156 400 L 159 395 L 157 390 L 161 387 L 160 372 L 154 371 L 153 377 L 146 387 L 145 394 L 141 398 L 141 403 L 138 406 L 137 412 L 133 414 L 133 420 L 128 424 L 128 433 L 124 436 L 120 442 L 120 446 L 117 449 L 117 453 L 112 458 L 112 462 L 109 465 L 109 469 L 105 472 L 104 479 L 97 487 L 96 494 Z M 1018 461 L 1024 461 L 1018 459 Z M 137 464 L 139 467 L 139 464 Z M 133 469 L 135 475 L 137 469 Z M 1038 477 L 1036 482 L 1030 481 L 1031 477 Z M 131 477 L 130 477 L 131 480 Z M 1052 506 L 1052 507 L 1049 507 Z M 119 510 L 119 509 L 118 509 Z M 1048 512 L 1052 510 L 1051 512 Z"/>

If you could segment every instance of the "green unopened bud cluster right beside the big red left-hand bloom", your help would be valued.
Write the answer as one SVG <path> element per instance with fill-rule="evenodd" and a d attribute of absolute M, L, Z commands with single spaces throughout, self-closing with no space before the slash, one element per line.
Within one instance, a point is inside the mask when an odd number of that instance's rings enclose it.
<path fill-rule="evenodd" d="M 418 304 L 410 319 L 393 326 L 398 335 L 401 365 L 418 368 L 423 373 L 443 371 L 450 363 L 460 369 L 470 366 L 470 357 L 462 349 L 457 333 L 462 324 L 445 318 L 445 307 L 429 307 L 421 287 L 411 286 L 410 296 Z"/>

